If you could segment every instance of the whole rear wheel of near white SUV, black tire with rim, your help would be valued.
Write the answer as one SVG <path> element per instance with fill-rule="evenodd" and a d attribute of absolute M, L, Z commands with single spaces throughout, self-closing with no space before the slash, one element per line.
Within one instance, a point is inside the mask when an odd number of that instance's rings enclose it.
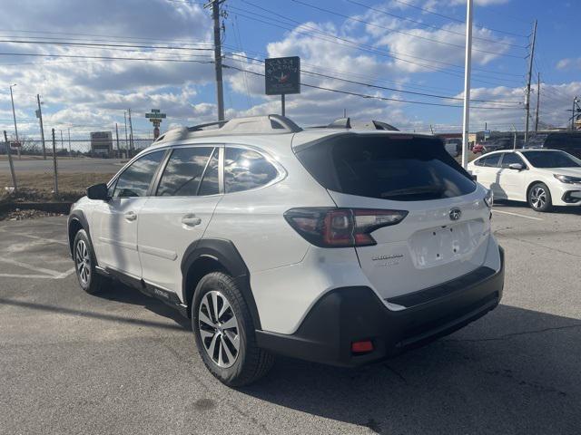
<path fill-rule="evenodd" d="M 216 312 L 214 301 L 217 301 Z M 192 330 L 202 361 L 228 386 L 248 385 L 271 369 L 272 355 L 256 345 L 248 305 L 230 275 L 212 272 L 200 280 L 192 298 Z"/>

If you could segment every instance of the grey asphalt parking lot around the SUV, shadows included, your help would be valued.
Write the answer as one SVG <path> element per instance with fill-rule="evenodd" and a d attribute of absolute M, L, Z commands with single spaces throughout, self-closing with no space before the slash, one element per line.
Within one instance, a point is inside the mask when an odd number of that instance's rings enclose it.
<path fill-rule="evenodd" d="M 0 433 L 576 434 L 581 208 L 495 207 L 502 304 L 357 371 L 279 359 L 228 389 L 187 321 L 123 285 L 86 295 L 65 218 L 0 222 Z"/>

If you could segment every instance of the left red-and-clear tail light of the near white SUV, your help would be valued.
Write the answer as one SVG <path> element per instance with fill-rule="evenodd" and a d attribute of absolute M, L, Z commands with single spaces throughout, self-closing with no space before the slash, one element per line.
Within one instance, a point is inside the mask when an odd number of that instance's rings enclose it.
<path fill-rule="evenodd" d="M 284 214 L 291 227 L 317 247 L 377 245 L 370 233 L 406 216 L 407 211 L 372 208 L 291 208 Z"/>

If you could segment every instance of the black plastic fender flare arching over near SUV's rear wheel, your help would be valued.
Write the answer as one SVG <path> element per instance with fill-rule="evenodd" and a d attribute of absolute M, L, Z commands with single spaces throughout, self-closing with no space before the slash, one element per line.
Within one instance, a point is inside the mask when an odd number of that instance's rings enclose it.
<path fill-rule="evenodd" d="M 182 257 L 182 300 L 187 301 L 188 285 L 186 283 L 188 271 L 192 265 L 202 257 L 210 257 L 231 275 L 241 289 L 242 295 L 251 312 L 252 321 L 256 329 L 261 329 L 261 320 L 252 295 L 251 274 L 244 263 L 240 252 L 231 240 L 222 238 L 202 238 L 190 245 Z"/>

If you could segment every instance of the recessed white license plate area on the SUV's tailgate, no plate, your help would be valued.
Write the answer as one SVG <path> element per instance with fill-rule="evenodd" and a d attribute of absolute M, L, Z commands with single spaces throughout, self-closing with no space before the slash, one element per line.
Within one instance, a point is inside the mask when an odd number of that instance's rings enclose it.
<path fill-rule="evenodd" d="M 414 266 L 440 266 L 469 256 L 486 236 L 484 229 L 484 222 L 478 219 L 414 233 L 409 237 Z"/>

